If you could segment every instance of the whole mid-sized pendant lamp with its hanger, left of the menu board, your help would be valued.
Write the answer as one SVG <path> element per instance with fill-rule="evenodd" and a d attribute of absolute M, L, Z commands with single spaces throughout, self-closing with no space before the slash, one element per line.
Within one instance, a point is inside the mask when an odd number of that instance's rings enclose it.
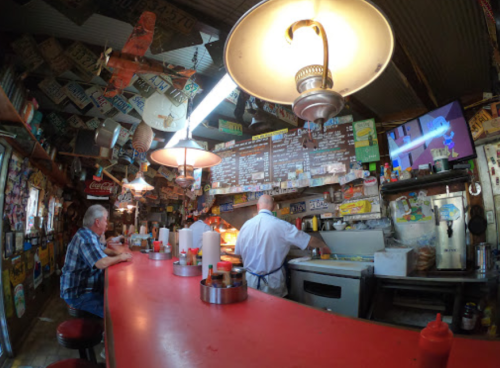
<path fill-rule="evenodd" d="M 175 182 L 182 188 L 188 188 L 194 183 L 194 169 L 212 167 L 220 164 L 222 158 L 215 153 L 204 150 L 189 134 L 190 111 L 192 100 L 188 108 L 188 124 L 186 138 L 172 147 L 165 147 L 151 153 L 151 160 L 164 166 L 176 167 L 178 175 Z"/>

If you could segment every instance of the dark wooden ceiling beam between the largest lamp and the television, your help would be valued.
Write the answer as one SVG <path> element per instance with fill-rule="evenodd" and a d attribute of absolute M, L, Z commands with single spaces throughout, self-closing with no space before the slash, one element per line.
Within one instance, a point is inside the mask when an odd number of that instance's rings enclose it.
<path fill-rule="evenodd" d="M 415 95 L 427 110 L 433 110 L 438 107 L 436 97 L 431 90 L 427 78 L 399 40 L 396 40 L 392 63 L 398 70 L 406 86 L 415 92 Z"/>

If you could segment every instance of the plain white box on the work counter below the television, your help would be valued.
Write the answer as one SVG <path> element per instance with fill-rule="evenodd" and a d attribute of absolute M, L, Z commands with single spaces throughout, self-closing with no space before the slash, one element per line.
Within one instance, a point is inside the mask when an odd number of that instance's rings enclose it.
<path fill-rule="evenodd" d="M 415 269 L 412 248 L 386 248 L 375 252 L 375 275 L 408 276 Z"/>

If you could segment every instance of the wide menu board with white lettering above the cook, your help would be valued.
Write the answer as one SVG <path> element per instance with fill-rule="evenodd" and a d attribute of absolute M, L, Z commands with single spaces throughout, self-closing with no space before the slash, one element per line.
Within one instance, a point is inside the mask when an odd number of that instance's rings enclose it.
<path fill-rule="evenodd" d="M 294 187 L 310 186 L 318 177 L 345 175 L 356 161 L 352 125 L 323 128 L 294 129 L 217 151 L 222 163 L 210 169 L 212 188 L 267 183 L 283 187 L 280 183 L 290 181 Z"/>

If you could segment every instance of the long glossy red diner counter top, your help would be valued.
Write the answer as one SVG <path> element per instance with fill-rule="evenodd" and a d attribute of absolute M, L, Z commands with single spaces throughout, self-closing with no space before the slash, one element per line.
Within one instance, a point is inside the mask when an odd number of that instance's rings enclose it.
<path fill-rule="evenodd" d="M 200 300 L 201 277 L 134 252 L 106 271 L 111 368 L 417 366 L 419 333 L 248 290 L 241 303 Z M 449 367 L 496 367 L 500 342 L 455 338 Z"/>

